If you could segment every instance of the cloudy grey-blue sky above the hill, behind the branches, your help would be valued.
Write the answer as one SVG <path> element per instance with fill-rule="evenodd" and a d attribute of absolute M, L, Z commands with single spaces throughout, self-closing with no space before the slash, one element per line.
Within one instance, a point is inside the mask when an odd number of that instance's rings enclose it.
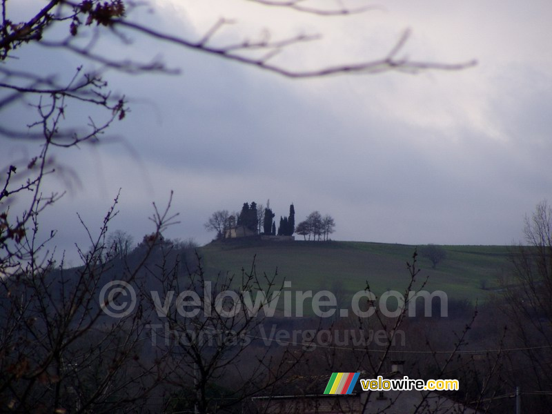
<path fill-rule="evenodd" d="M 21 20 L 37 0 L 15 3 Z M 311 4 L 333 5 L 326 1 Z M 213 44 L 246 37 L 319 34 L 285 48 L 275 63 L 294 70 L 380 59 L 404 30 L 400 56 L 462 63 L 464 70 L 384 72 L 320 79 L 274 73 L 129 33 L 99 43 L 106 55 L 162 59 L 179 75 L 126 75 L 109 70 L 110 87 L 131 112 L 97 146 L 63 149 L 67 190 L 43 213 L 45 233 L 57 229 L 57 251 L 78 264 L 121 188 L 110 229 L 139 241 L 152 231 L 152 202 L 174 191 L 179 224 L 166 237 L 214 237 L 204 222 L 215 210 L 239 211 L 256 201 L 296 222 L 319 210 L 335 218 L 332 239 L 401 244 L 512 244 L 524 215 L 552 199 L 552 54 L 549 1 L 400 0 L 347 3 L 373 10 L 321 17 L 244 0 L 154 0 L 131 20 L 199 39 L 217 19 L 233 23 Z M 14 21 L 17 21 L 14 19 Z M 55 32 L 53 36 L 57 35 Z M 70 76 L 81 58 L 29 46 L 20 67 Z M 94 63 L 84 62 L 86 68 Z M 28 101 L 0 112 L 4 126 L 32 117 Z M 74 108 L 68 123 L 85 122 Z M 0 138 L 0 166 L 36 152 L 37 143 Z"/>

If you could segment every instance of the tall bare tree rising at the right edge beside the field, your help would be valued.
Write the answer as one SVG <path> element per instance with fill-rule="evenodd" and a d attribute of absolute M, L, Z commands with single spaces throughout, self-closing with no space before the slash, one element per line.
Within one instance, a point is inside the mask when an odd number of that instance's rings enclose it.
<path fill-rule="evenodd" d="M 511 251 L 512 275 L 503 281 L 500 309 L 508 317 L 513 345 L 522 349 L 511 359 L 511 369 L 527 375 L 508 377 L 507 384 L 522 387 L 524 409 L 545 412 L 552 386 L 546 368 L 552 358 L 552 208 L 546 200 L 525 217 L 524 236 L 525 244 Z"/>

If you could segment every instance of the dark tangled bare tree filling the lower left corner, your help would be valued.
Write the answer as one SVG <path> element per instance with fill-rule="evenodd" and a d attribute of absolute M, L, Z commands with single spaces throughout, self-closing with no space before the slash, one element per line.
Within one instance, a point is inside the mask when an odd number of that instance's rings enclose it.
<path fill-rule="evenodd" d="M 55 266 L 51 257 L 41 264 L 33 256 L 0 280 L 1 411 L 149 411 L 144 404 L 164 377 L 143 353 L 142 337 L 151 310 L 134 296 L 130 301 L 136 306 L 134 312 L 112 318 L 106 314 L 121 311 L 120 299 L 135 292 L 132 286 L 141 286 L 139 273 L 153 246 L 135 267 L 116 266 L 122 262 L 113 256 L 99 259 L 109 249 L 106 233 L 117 214 L 117 200 L 99 234 L 92 235 L 83 224 L 92 249 L 79 250 L 82 266 L 66 270 L 63 263 Z M 156 210 L 155 233 L 170 224 L 167 212 Z M 32 246 L 35 237 L 36 228 L 26 233 L 25 244 Z M 125 293 L 106 294 L 113 284 Z"/>

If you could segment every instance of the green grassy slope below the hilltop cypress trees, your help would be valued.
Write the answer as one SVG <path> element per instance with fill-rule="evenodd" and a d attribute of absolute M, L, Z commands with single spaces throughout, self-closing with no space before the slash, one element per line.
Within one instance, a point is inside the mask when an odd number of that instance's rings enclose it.
<path fill-rule="evenodd" d="M 449 298 L 486 299 L 497 278 L 508 272 L 508 246 L 443 246 L 447 258 L 436 268 L 418 257 L 429 277 L 425 290 L 444 290 Z M 241 273 L 250 269 L 253 257 L 257 273 L 292 282 L 293 290 L 332 290 L 341 286 L 348 293 L 364 289 L 366 281 L 380 295 L 385 290 L 403 291 L 408 284 L 406 262 L 415 246 L 366 242 L 267 242 L 255 238 L 217 242 L 199 249 L 208 275 Z M 482 288 L 482 287 L 485 287 Z"/>

